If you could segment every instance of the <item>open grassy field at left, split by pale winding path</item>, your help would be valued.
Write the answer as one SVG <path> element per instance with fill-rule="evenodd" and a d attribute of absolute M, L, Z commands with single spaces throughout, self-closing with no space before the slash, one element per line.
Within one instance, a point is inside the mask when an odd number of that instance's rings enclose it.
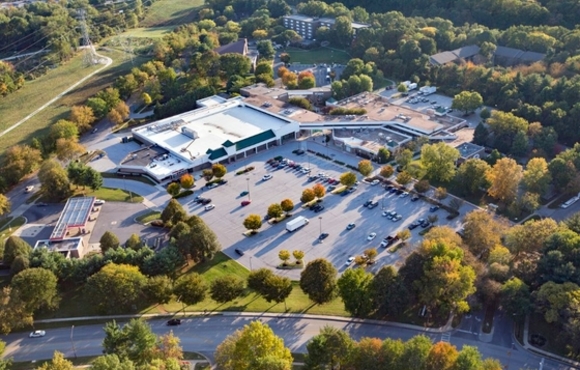
<path fill-rule="evenodd" d="M 148 60 L 148 58 L 144 57 L 134 57 L 131 60 L 126 53 L 116 50 L 100 50 L 99 53 L 112 58 L 113 64 L 20 125 L 17 130 L 12 130 L 2 136 L 3 145 L 0 145 L 0 154 L 10 146 L 29 143 L 32 138 L 46 134 L 51 124 L 69 116 L 73 105 L 84 103 L 89 97 L 111 85 L 115 78 L 128 73 L 131 68 L 137 67 Z M 51 71 L 49 75 L 32 81 L 15 94 L 1 99 L 0 111 L 2 111 L 2 119 L 0 120 L 0 129 L 2 129 L 3 124 L 8 127 L 24 118 L 44 104 L 44 102 L 65 90 L 95 68 L 99 67 L 82 67 L 82 55 L 79 54 L 66 65 Z M 53 75 L 52 73 L 55 74 Z M 48 77 L 50 79 L 45 80 Z M 63 80 L 65 82 L 62 82 Z"/>

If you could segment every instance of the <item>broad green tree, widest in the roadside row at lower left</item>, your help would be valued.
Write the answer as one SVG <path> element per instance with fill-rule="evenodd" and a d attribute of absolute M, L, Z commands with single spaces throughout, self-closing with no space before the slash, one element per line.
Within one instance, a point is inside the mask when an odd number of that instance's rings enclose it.
<path fill-rule="evenodd" d="M 88 278 L 84 289 L 100 313 L 128 312 L 139 304 L 147 278 L 136 266 L 109 263 Z"/>

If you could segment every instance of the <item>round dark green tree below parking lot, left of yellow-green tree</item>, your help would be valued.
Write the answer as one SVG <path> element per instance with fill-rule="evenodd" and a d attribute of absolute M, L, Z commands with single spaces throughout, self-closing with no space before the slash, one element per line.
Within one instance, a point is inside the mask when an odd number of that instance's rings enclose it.
<path fill-rule="evenodd" d="M 336 269 L 323 258 L 309 262 L 300 274 L 300 288 L 316 304 L 330 302 L 336 292 Z"/>

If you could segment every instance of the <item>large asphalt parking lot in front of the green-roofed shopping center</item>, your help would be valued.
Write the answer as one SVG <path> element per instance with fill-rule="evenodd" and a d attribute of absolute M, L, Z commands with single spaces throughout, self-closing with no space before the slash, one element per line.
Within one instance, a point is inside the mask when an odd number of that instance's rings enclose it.
<path fill-rule="evenodd" d="M 358 189 L 347 196 L 327 194 L 322 203 L 325 208 L 319 213 L 303 209 L 300 207 L 299 200 L 302 191 L 319 181 L 308 182 L 308 175 L 290 168 L 272 169 L 265 164 L 268 159 L 280 155 L 310 167 L 312 174 L 324 172 L 336 179 L 348 169 L 313 155 L 293 154 L 292 150 L 299 146 L 299 142 L 290 143 L 259 153 L 242 163 L 238 162 L 232 168 L 228 168 L 227 184 L 196 192 L 197 195 L 211 198 L 216 206 L 215 209 L 205 211 L 203 205 L 188 200 L 183 202 L 186 210 L 202 216 L 217 234 L 224 252 L 248 268 L 276 268 L 280 264 L 278 258 L 280 250 L 299 249 L 306 253 L 305 262 L 323 257 L 342 272 L 346 268 L 345 262 L 348 257 L 359 255 L 371 247 L 377 248 L 379 252 L 377 263 L 372 267 L 373 270 L 378 270 L 385 264 L 400 265 L 404 257 L 412 252 L 411 245 L 420 241 L 419 232 L 422 228 L 414 229 L 409 240 L 410 245 L 396 253 L 389 253 L 386 249 L 379 248 L 379 244 L 386 236 L 407 228 L 420 218 L 427 218 L 432 214 L 429 212 L 430 205 L 421 200 L 412 202 L 411 197 L 399 198 L 396 194 L 386 192 L 380 185 L 371 186 L 361 182 Z M 356 157 L 352 159 L 355 163 L 358 161 Z M 233 172 L 244 166 L 254 166 L 255 169 L 248 174 L 235 176 Z M 265 174 L 272 174 L 273 177 L 263 181 L 262 177 Z M 252 202 L 242 207 L 241 202 L 247 200 L 248 196 L 240 196 L 240 193 L 248 189 Z M 274 225 L 264 222 L 257 235 L 251 237 L 243 235 L 246 229 L 242 223 L 248 215 L 266 216 L 270 204 L 280 203 L 286 198 L 292 199 L 295 204 L 293 218 L 304 216 L 310 221 L 308 225 L 288 233 L 285 229 L 288 220 Z M 363 207 L 368 200 L 377 201 L 378 206 L 374 209 Z M 464 205 L 461 209 L 462 215 L 472 209 L 473 206 Z M 382 212 L 386 210 L 396 211 L 403 216 L 403 219 L 398 222 L 387 220 L 382 216 Z M 449 222 L 445 219 L 446 211 L 439 210 L 435 214 L 439 217 L 437 225 Z M 455 218 L 450 222 L 450 226 L 459 228 L 461 219 L 462 216 Z M 349 223 L 355 223 L 356 227 L 350 231 L 346 230 Z M 329 234 L 322 243 L 318 240 L 321 232 Z M 377 233 L 377 236 L 369 241 L 367 237 L 372 232 Z M 244 256 L 237 255 L 235 249 L 244 251 Z M 300 276 L 300 270 L 279 270 L 279 273 L 293 279 Z"/>

